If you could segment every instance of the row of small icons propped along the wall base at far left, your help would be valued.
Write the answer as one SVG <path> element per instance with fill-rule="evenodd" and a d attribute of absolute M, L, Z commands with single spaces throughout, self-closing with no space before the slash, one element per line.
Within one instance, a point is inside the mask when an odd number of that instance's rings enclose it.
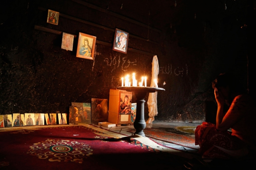
<path fill-rule="evenodd" d="M 58 117 L 57 117 L 58 116 Z M 58 120 L 58 121 L 57 121 Z M 66 113 L 13 113 L 0 115 L 0 127 L 67 124 Z"/>

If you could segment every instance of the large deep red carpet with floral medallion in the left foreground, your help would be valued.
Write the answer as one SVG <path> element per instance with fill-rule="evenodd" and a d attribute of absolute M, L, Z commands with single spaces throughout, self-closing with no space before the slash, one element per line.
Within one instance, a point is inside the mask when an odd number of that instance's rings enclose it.
<path fill-rule="evenodd" d="M 99 134 L 85 126 L 0 131 L 0 169 L 182 169 L 187 160 L 134 138 Z"/>

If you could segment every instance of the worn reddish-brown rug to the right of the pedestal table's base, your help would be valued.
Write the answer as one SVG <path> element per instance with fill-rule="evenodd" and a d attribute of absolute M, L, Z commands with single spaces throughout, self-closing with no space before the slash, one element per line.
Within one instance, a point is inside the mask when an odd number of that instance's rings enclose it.
<path fill-rule="evenodd" d="M 190 133 L 173 128 L 146 128 L 143 131 L 147 137 L 199 150 L 199 145 L 195 145 L 195 137 Z"/>

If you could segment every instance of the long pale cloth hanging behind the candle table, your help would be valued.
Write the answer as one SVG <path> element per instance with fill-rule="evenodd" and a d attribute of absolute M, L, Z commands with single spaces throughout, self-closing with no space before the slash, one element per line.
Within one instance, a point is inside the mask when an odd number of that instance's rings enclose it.
<path fill-rule="evenodd" d="M 156 87 L 155 79 L 157 80 L 157 75 L 159 74 L 159 65 L 158 65 L 158 59 L 155 55 L 152 62 L 152 78 L 151 78 L 151 84 L 150 87 Z M 157 112 L 157 91 L 154 93 L 149 93 L 149 99 L 147 101 L 148 108 L 149 108 L 149 120 L 147 121 L 147 124 L 151 124 L 155 119 L 154 117 L 158 114 Z"/>

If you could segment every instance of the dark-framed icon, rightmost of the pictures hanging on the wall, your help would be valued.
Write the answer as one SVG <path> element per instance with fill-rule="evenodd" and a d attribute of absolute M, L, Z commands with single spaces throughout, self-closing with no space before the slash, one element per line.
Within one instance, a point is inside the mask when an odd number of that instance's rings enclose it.
<path fill-rule="evenodd" d="M 127 53 L 129 33 L 116 29 L 113 50 Z"/>

